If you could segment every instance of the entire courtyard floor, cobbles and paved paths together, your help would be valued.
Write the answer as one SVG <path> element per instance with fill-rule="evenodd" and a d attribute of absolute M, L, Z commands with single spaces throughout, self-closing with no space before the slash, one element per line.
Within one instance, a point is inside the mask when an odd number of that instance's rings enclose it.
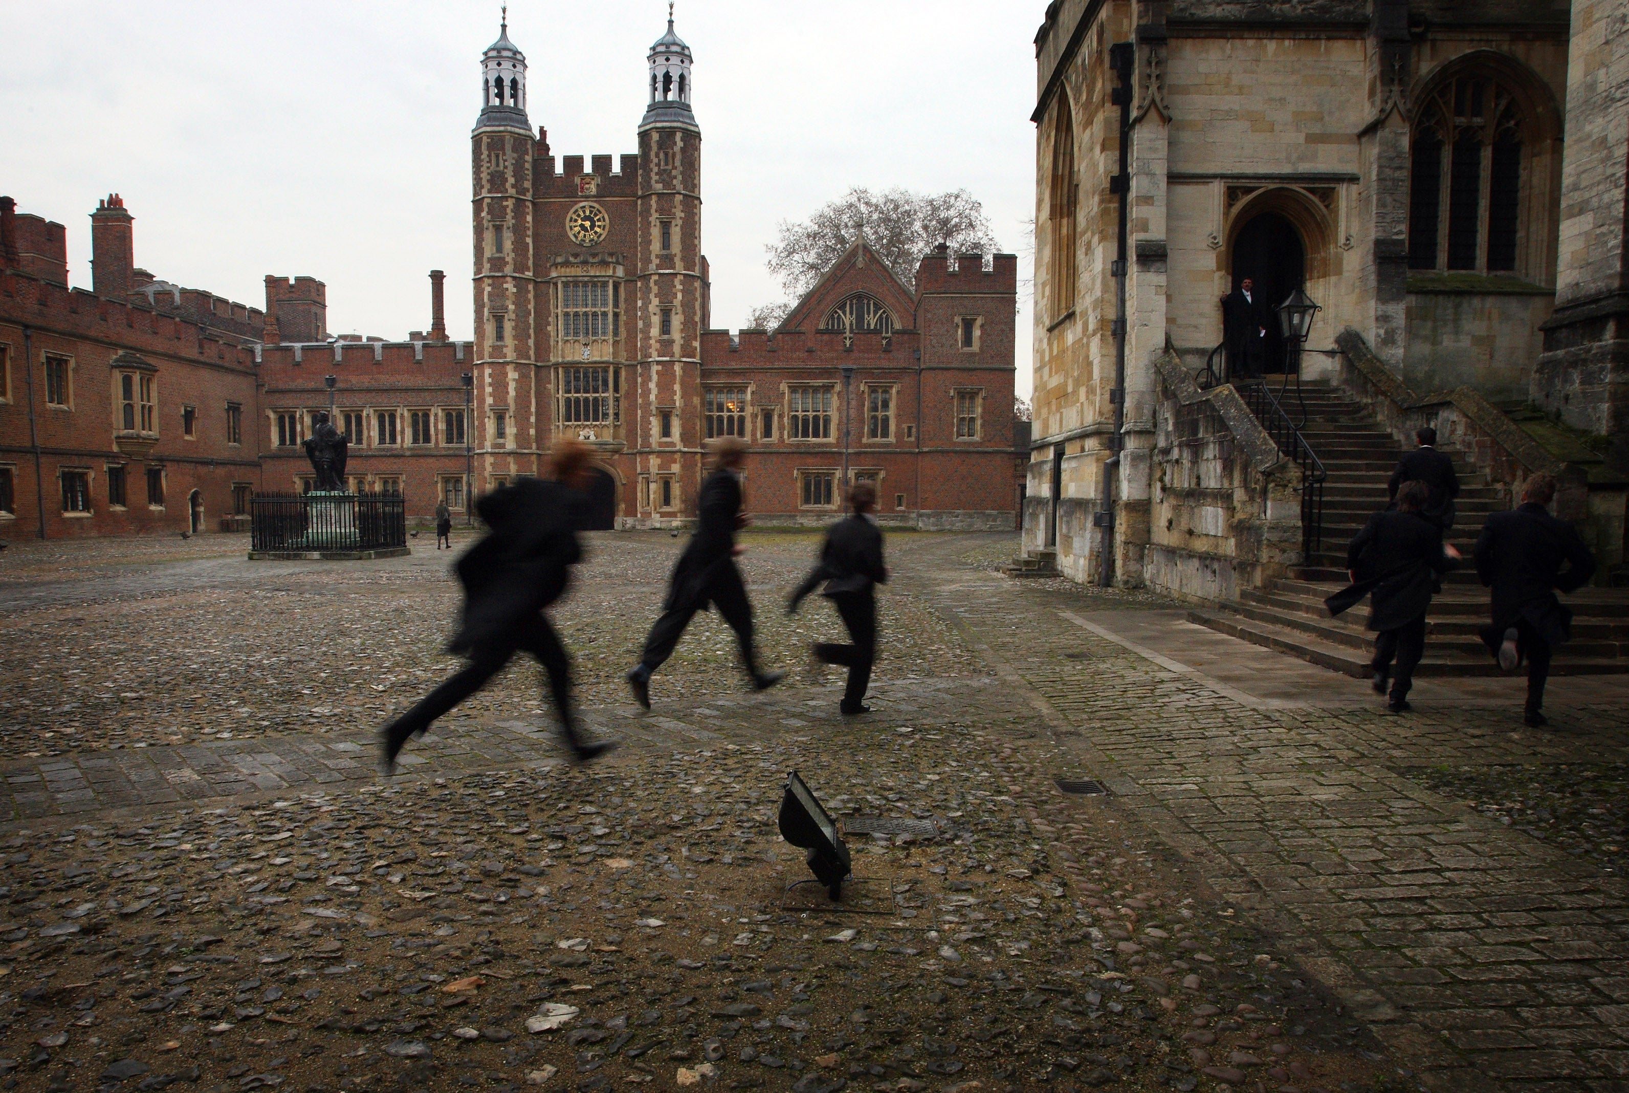
<path fill-rule="evenodd" d="M 461 541 L 468 542 L 468 541 Z M 749 536 L 749 694 L 700 617 L 632 663 L 679 541 L 593 536 L 557 619 L 596 735 L 520 665 L 406 753 L 451 555 L 251 564 L 228 536 L 0 554 L 0 1086 L 1629 1088 L 1624 709 L 1557 679 L 1367 687 L 1175 604 L 889 539 L 873 713 Z M 857 850 L 841 909 L 785 770 Z M 1108 795 L 1064 793 L 1096 780 Z"/>

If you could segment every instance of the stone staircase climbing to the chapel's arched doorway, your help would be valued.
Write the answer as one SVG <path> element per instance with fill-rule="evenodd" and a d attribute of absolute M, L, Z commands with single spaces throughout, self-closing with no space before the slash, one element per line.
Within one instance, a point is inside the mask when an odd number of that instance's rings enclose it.
<path fill-rule="evenodd" d="M 1293 391 L 1293 388 L 1292 388 Z M 1302 435 L 1323 461 L 1323 542 L 1295 578 L 1246 590 L 1238 603 L 1191 611 L 1189 621 L 1222 634 L 1300 656 L 1349 676 L 1368 674 L 1373 634 L 1363 629 L 1367 603 L 1331 619 L 1323 601 L 1347 583 L 1346 546 L 1386 507 L 1386 481 L 1403 448 L 1357 401 L 1328 384 L 1305 384 L 1306 425 Z M 1300 410 L 1293 394 L 1285 399 Z M 1455 466 L 1463 453 L 1443 448 Z M 1487 590 L 1476 578 L 1471 549 L 1487 513 L 1504 508 L 1500 490 L 1482 476 L 1460 472 L 1458 520 L 1448 542 L 1464 554 L 1463 568 L 1448 573 L 1443 591 L 1425 616 L 1425 660 L 1419 676 L 1495 676 L 1497 665 L 1478 637 L 1487 621 Z M 1556 656 L 1554 674 L 1629 673 L 1629 593 L 1583 588 L 1567 596 L 1574 609 L 1572 642 Z"/>

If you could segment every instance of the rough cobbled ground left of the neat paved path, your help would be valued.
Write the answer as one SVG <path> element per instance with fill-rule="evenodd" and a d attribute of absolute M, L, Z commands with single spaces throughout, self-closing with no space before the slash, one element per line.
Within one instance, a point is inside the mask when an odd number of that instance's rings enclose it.
<path fill-rule="evenodd" d="M 717 621 L 658 676 L 656 710 L 629 709 L 614 673 L 676 546 L 596 539 L 562 611 L 603 696 L 591 730 L 627 744 L 586 770 L 559 761 L 528 669 L 376 779 L 373 728 L 450 665 L 433 552 L 262 568 L 75 544 L 49 596 L 0 590 L 8 671 L 31 684 L 0 710 L 0 1088 L 1412 1088 L 1293 938 L 1150 836 L 1132 782 L 1059 792 L 1096 753 L 979 637 L 1041 593 L 961 560 L 1010 539 L 891 539 L 891 645 L 858 722 L 834 717 L 834 678 L 738 691 Z M 753 539 L 774 663 L 834 627 L 775 611 L 811 547 Z M 974 590 L 994 599 L 959 599 Z M 246 614 L 256 596 L 310 606 L 279 622 Z M 331 676 L 313 710 L 311 673 L 368 640 L 386 663 Z M 75 713 L 80 681 L 44 669 L 73 655 L 86 674 L 151 665 L 140 697 L 204 697 Z M 774 834 L 787 769 L 849 827 L 842 907 L 785 891 L 803 876 Z"/>

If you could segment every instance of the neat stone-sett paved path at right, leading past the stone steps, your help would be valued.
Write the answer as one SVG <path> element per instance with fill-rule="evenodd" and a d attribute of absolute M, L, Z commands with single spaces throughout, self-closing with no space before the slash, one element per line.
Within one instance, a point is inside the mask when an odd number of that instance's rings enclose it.
<path fill-rule="evenodd" d="M 1557 681 L 1556 733 L 1518 731 L 1508 697 L 1497 712 L 1419 700 L 1391 717 L 1334 674 L 1328 691 L 1346 692 L 1334 700 L 1254 702 L 1117 634 L 1147 614 L 1124 598 L 925 580 L 953 551 L 927 552 L 920 591 L 1087 769 L 1430 1088 L 1629 1088 L 1622 881 L 1406 777 L 1621 762 L 1621 684 Z M 1238 656 L 1259 653 L 1240 643 Z"/>

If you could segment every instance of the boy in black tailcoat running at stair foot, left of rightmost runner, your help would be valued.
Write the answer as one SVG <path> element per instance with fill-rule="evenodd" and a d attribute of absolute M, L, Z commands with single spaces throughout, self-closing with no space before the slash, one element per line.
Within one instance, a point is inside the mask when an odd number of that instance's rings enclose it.
<path fill-rule="evenodd" d="M 1370 516 L 1346 551 L 1352 586 L 1324 601 L 1331 614 L 1341 614 L 1370 593 L 1370 683 L 1377 694 L 1386 694 L 1390 681 L 1386 709 L 1393 713 L 1411 709 L 1414 669 L 1425 655 L 1425 611 L 1442 588 L 1442 575 L 1460 560 L 1458 551 L 1443 546 L 1442 526 L 1422 511 L 1429 497 L 1424 482 L 1407 482 L 1398 490 L 1396 510 Z"/>

